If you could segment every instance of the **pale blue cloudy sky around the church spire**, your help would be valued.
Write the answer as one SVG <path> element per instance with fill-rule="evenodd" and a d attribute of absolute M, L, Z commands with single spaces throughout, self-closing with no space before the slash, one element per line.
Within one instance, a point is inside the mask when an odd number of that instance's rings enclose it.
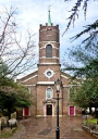
<path fill-rule="evenodd" d="M 60 55 L 61 61 L 64 58 L 64 52 L 68 48 L 76 46 L 79 40 L 70 42 L 70 38 L 79 33 L 83 26 L 90 24 L 98 18 L 98 1 L 90 0 L 87 9 L 87 20 L 85 21 L 84 12 L 79 13 L 79 18 L 75 22 L 74 28 L 68 30 L 62 37 L 68 24 L 68 17 L 70 16 L 70 10 L 74 5 L 76 0 L 64 2 L 64 0 L 0 0 L 0 8 L 10 8 L 11 5 L 17 8 L 17 23 L 21 27 L 27 28 L 28 26 L 35 33 L 36 45 L 38 46 L 39 24 L 45 25 L 48 22 L 48 8 L 51 5 L 51 21 L 53 25 L 59 24 L 60 28 Z"/>

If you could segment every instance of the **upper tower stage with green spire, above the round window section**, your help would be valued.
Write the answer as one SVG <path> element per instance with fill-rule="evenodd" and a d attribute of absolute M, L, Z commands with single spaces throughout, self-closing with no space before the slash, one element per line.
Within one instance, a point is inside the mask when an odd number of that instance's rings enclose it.
<path fill-rule="evenodd" d="M 52 25 L 48 11 L 48 23 L 39 29 L 39 64 L 59 64 L 59 25 Z"/>

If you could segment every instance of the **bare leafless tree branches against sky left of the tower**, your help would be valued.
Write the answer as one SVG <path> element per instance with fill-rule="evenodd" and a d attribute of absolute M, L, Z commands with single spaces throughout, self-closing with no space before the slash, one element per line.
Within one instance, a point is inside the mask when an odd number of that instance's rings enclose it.
<path fill-rule="evenodd" d="M 0 59 L 7 64 L 4 71 L 8 70 L 3 76 L 16 76 L 29 70 L 36 63 L 34 61 L 36 49 L 34 45 L 34 34 L 26 30 L 26 40 L 23 39 L 22 35 L 20 36 L 16 31 L 17 24 L 15 16 L 16 9 L 13 10 L 11 8 L 10 12 L 4 9 L 2 17 L 0 18 Z"/>

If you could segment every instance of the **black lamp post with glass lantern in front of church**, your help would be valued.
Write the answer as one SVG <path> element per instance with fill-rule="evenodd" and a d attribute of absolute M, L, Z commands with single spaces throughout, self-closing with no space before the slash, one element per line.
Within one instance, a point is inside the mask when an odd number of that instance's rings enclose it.
<path fill-rule="evenodd" d="M 56 127 L 56 139 L 60 139 L 60 127 L 59 127 L 59 93 L 60 93 L 60 88 L 61 88 L 61 81 L 58 78 L 54 81 L 56 85 L 56 90 L 57 90 L 57 127 Z"/>

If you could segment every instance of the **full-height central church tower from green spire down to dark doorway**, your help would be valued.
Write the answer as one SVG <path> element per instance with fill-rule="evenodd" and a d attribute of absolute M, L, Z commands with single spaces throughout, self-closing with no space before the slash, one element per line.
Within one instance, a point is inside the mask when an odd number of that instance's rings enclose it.
<path fill-rule="evenodd" d="M 60 79 L 59 25 L 48 23 L 39 27 L 39 64 L 37 80 L 37 115 L 56 115 L 54 81 Z M 61 104 L 60 104 L 61 105 Z M 60 109 L 61 110 L 61 109 Z M 61 112 L 60 112 L 61 113 Z"/>

